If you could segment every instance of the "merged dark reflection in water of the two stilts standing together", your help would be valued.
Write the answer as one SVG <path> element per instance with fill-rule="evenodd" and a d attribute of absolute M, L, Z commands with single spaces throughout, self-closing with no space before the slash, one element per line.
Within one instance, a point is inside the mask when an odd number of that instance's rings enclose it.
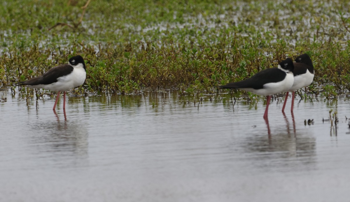
<path fill-rule="evenodd" d="M 257 159 L 257 166 L 270 169 L 271 165 L 264 162 L 273 160 L 274 169 L 289 170 L 295 166 L 303 166 L 306 170 L 314 169 L 316 162 L 316 139 L 313 135 L 296 131 L 294 114 L 292 123 L 290 118 L 283 114 L 286 125 L 269 124 L 268 118 L 264 119 L 267 127 L 264 134 L 256 132 L 256 135 L 247 137 L 243 148 L 247 153 L 254 154 L 251 158 Z M 271 118 L 271 117 L 270 117 Z M 289 118 L 289 120 L 288 120 Z M 293 126 L 293 130 L 291 127 Z M 271 162 L 271 161 L 270 161 Z"/>

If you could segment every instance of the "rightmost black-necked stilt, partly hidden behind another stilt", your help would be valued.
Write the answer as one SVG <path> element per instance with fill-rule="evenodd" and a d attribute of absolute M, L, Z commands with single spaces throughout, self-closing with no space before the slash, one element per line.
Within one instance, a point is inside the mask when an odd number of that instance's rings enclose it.
<path fill-rule="evenodd" d="M 311 58 L 308 54 L 299 55 L 295 59 L 294 63 L 294 83 L 293 86 L 287 91 L 285 102 L 282 107 L 282 112 L 286 107 L 288 92 L 292 92 L 292 107 L 290 111 L 293 112 L 295 91 L 300 88 L 304 88 L 312 83 L 314 80 L 314 66 L 312 64 Z"/>

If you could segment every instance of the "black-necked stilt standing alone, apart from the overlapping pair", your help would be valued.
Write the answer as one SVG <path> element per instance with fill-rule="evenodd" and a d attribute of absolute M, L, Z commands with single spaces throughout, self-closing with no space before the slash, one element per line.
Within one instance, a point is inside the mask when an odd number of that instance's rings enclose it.
<path fill-rule="evenodd" d="M 43 75 L 18 82 L 18 85 L 26 85 L 28 88 L 44 88 L 58 91 L 53 110 L 55 111 L 59 93 L 63 92 L 63 110 L 65 110 L 65 91 L 78 87 L 85 82 L 86 67 L 84 59 L 80 56 L 71 57 L 68 64 L 51 68 Z"/>

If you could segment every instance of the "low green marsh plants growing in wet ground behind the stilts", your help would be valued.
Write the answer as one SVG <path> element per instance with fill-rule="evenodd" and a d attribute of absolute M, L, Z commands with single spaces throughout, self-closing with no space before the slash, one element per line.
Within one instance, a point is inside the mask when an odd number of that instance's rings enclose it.
<path fill-rule="evenodd" d="M 330 98 L 350 90 L 349 1 L 85 3 L 1 1 L 2 85 L 80 54 L 87 65 L 81 91 L 212 93 L 306 52 L 315 67 L 312 92 Z"/>

